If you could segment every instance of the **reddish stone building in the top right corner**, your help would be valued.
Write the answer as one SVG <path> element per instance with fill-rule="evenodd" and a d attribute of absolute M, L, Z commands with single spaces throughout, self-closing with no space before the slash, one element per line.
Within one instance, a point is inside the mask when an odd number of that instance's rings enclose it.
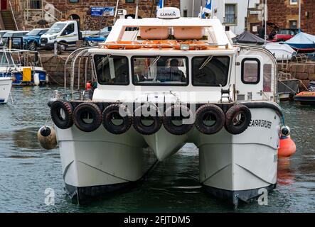
<path fill-rule="evenodd" d="M 268 22 L 279 28 L 299 27 L 299 0 L 267 1 L 267 5 Z M 301 0 L 301 30 L 315 35 L 314 22 L 315 0 Z"/>

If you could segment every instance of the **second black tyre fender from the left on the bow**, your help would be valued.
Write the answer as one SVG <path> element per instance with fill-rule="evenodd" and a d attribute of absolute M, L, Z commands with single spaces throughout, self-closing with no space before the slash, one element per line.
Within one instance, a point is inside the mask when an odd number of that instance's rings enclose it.
<path fill-rule="evenodd" d="M 87 122 L 85 119 L 89 119 L 90 122 Z M 97 130 L 102 123 L 100 107 L 90 102 L 80 104 L 75 107 L 75 111 L 73 112 L 73 122 L 80 131 L 90 133 Z"/>

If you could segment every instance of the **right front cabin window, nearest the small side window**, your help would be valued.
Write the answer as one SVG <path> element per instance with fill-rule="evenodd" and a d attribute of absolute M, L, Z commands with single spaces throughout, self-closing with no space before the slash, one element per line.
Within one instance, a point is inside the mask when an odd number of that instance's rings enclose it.
<path fill-rule="evenodd" d="M 228 84 L 230 57 L 193 57 L 193 86 L 223 87 Z"/>

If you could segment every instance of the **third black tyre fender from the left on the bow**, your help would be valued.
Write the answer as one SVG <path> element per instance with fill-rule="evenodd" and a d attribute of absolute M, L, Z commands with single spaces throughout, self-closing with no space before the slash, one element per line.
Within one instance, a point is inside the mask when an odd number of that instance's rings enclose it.
<path fill-rule="evenodd" d="M 119 109 L 122 108 L 126 111 L 126 116 L 121 116 L 119 114 Z M 119 119 L 122 123 L 119 125 L 115 124 L 112 120 Z M 132 117 L 127 107 L 122 104 L 111 104 L 107 106 L 102 114 L 103 126 L 112 134 L 120 135 L 126 133 L 132 126 Z"/>

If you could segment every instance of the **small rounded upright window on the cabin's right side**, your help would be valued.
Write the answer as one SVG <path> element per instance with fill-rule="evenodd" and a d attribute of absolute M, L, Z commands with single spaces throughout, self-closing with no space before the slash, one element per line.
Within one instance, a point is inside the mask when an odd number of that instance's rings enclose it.
<path fill-rule="evenodd" d="M 256 58 L 242 60 L 242 82 L 258 84 L 260 82 L 260 61 Z"/>

